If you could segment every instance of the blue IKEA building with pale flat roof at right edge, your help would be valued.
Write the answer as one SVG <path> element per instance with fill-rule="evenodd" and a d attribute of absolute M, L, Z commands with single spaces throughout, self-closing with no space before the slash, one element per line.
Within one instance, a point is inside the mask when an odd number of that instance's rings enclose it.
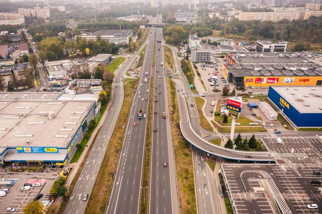
<path fill-rule="evenodd" d="M 321 86 L 270 86 L 268 98 L 296 127 L 322 127 Z"/>

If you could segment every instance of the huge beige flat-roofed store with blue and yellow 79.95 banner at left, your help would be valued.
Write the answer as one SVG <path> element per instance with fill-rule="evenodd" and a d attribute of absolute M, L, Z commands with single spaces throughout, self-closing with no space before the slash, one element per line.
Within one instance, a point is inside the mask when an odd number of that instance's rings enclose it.
<path fill-rule="evenodd" d="M 49 162 L 62 165 L 95 115 L 97 97 L 62 100 L 55 92 L 0 93 L 0 164 Z M 61 99 L 60 99 L 61 98 Z"/>

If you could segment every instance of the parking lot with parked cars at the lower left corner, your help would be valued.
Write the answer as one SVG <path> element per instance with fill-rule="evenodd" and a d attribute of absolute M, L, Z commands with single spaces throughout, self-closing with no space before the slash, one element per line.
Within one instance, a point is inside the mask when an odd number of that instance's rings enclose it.
<path fill-rule="evenodd" d="M 45 200 L 46 194 L 54 183 L 58 173 L 56 171 L 49 172 L 0 172 L 2 180 L 13 180 L 15 184 L 12 187 L 0 187 L 1 190 L 9 188 L 9 192 L 4 197 L 0 197 L 0 213 L 8 213 L 8 207 L 15 208 L 14 213 L 23 213 L 25 205 L 32 201 L 37 194 L 43 194 L 39 199 L 40 202 Z M 40 187 L 31 187 L 30 190 L 21 190 L 25 183 L 41 183 Z M 12 213 L 12 212 L 11 212 Z"/>

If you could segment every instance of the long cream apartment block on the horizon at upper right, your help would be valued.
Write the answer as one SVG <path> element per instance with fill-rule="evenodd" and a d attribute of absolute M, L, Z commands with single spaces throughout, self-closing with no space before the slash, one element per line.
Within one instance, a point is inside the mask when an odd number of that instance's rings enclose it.
<path fill-rule="evenodd" d="M 322 11 L 304 11 L 304 10 L 286 10 L 276 12 L 242 12 L 239 14 L 239 20 L 251 21 L 280 21 L 282 19 L 294 20 L 294 19 L 308 19 L 310 16 L 322 16 Z"/>

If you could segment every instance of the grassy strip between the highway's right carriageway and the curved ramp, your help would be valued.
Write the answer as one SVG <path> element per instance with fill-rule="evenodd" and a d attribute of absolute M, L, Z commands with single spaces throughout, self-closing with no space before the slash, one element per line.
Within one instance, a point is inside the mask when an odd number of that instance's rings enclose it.
<path fill-rule="evenodd" d="M 179 127 L 179 107 L 175 83 L 167 78 L 171 113 L 171 130 L 175 151 L 179 206 L 182 214 L 196 214 L 194 192 L 193 156 L 189 144 L 183 138 Z"/>

